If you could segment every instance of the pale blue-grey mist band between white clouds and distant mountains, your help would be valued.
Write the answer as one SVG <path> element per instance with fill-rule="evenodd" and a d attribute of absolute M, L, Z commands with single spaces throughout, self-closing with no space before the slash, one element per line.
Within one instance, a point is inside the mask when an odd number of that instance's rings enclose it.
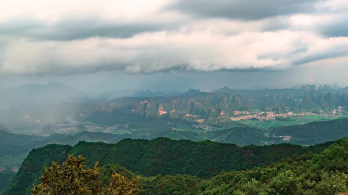
<path fill-rule="evenodd" d="M 123 71 L 99 71 L 74 75 L 4 75 L 0 77 L 0 88 L 11 88 L 23 84 L 47 84 L 58 82 L 97 96 L 105 91 L 151 90 L 177 91 L 188 89 L 211 90 L 229 87 L 233 89 L 292 88 L 306 84 L 337 84 L 348 86 L 345 64 L 315 64 L 296 66 L 275 71 L 168 71 L 148 74 L 126 73 Z M 337 69 L 341 71 L 337 71 Z"/>

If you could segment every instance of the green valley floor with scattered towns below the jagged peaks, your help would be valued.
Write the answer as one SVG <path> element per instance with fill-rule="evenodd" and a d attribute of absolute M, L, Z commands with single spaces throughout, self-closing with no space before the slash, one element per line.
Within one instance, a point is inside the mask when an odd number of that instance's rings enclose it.
<path fill-rule="evenodd" d="M 339 118 L 347 118 L 346 112 L 342 116 L 333 115 L 301 115 L 291 116 L 288 118 L 277 118 L 276 120 L 259 121 L 259 120 L 241 120 L 230 121 L 228 118 L 221 118 L 214 121 L 202 123 L 193 120 L 180 121 L 153 121 L 150 123 L 129 123 L 127 128 L 119 128 L 111 132 L 118 135 L 127 135 L 130 138 L 154 139 L 156 137 L 168 137 L 171 139 L 190 139 L 206 140 L 214 137 L 217 131 L 246 127 L 262 131 L 268 136 L 269 130 L 279 127 L 303 125 L 311 122 L 330 121 Z M 208 127 L 208 128 L 205 128 Z M 101 127 L 96 132 L 106 132 L 106 128 Z"/>

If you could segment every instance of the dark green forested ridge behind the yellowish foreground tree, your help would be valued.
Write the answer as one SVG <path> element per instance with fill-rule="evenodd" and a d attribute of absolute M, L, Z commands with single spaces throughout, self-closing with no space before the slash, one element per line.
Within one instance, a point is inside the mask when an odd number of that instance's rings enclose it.
<path fill-rule="evenodd" d="M 146 178 L 142 179 L 140 186 L 147 187 L 150 191 L 158 190 L 151 188 L 151 185 L 162 186 L 163 181 L 168 181 L 166 185 L 171 183 L 170 186 L 176 186 L 175 188 L 179 190 L 193 189 L 201 181 L 209 181 L 207 178 L 224 174 L 222 171 L 248 170 L 267 166 L 293 155 L 299 156 L 305 153 L 312 155 L 322 152 L 332 143 L 340 142 L 341 140 L 338 140 L 309 147 L 292 144 L 240 147 L 212 141 L 157 138 L 125 139 L 116 144 L 85 141 L 80 141 L 75 146 L 50 144 L 30 152 L 5 194 L 29 194 L 32 184 L 38 183 L 44 167 L 49 166 L 51 161 L 63 162 L 70 153 L 82 154 L 88 159 L 86 162 L 88 166 L 100 161 L 100 165 L 105 169 L 112 170 L 112 167 L 115 167 L 113 164 L 118 164 L 134 174 L 142 175 Z M 189 184 L 184 185 L 182 182 Z M 170 191 L 172 190 L 170 186 L 165 188 Z"/>

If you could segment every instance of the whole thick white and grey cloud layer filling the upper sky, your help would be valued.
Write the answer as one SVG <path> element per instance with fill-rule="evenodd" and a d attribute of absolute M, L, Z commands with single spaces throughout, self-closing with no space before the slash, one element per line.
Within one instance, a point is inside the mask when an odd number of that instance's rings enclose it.
<path fill-rule="evenodd" d="M 346 18 L 346 0 L 3 0 L 0 74 L 342 63 Z"/>

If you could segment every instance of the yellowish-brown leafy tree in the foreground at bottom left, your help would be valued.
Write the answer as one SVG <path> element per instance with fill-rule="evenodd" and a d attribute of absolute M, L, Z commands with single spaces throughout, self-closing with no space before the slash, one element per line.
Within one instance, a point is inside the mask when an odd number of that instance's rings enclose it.
<path fill-rule="evenodd" d="M 139 192 L 139 178 L 128 181 L 124 176 L 111 175 L 108 187 L 99 179 L 98 162 L 93 169 L 86 167 L 86 159 L 73 154 L 68 156 L 62 166 L 52 162 L 40 177 L 40 183 L 33 185 L 32 195 L 134 195 Z"/>

